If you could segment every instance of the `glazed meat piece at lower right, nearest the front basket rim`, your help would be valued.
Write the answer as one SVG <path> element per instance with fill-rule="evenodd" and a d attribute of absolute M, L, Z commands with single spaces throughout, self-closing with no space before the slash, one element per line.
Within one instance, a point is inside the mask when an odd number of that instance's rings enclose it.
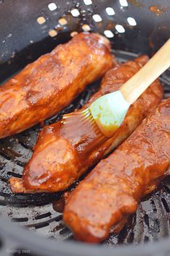
<path fill-rule="evenodd" d="M 170 98 L 72 192 L 63 214 L 76 239 L 101 242 L 170 174 Z M 120 226 L 119 226 L 120 225 Z M 122 226 L 121 226 L 122 225 Z"/>

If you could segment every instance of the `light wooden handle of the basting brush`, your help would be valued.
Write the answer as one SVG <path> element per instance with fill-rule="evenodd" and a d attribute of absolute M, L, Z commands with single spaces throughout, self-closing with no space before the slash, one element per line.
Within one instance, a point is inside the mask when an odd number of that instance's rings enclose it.
<path fill-rule="evenodd" d="M 170 67 L 170 39 L 128 82 L 121 86 L 120 91 L 128 103 L 134 101 Z"/>

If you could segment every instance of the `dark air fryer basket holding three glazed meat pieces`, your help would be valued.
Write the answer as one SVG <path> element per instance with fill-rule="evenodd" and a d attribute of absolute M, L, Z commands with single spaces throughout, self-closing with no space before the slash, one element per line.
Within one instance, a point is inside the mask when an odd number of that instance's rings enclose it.
<path fill-rule="evenodd" d="M 169 22 L 169 0 L 0 0 L 0 82 L 82 30 L 107 35 L 119 61 L 141 53 L 151 56 L 169 38 Z M 170 70 L 161 82 L 167 98 Z M 98 85 L 90 85 L 45 124 L 80 108 Z M 170 255 L 169 179 L 140 203 L 120 234 L 112 234 L 99 245 L 74 241 L 62 213 L 53 208 L 62 193 L 13 195 L 8 179 L 22 176 L 40 129 L 37 125 L 0 140 L 0 255 Z"/>

